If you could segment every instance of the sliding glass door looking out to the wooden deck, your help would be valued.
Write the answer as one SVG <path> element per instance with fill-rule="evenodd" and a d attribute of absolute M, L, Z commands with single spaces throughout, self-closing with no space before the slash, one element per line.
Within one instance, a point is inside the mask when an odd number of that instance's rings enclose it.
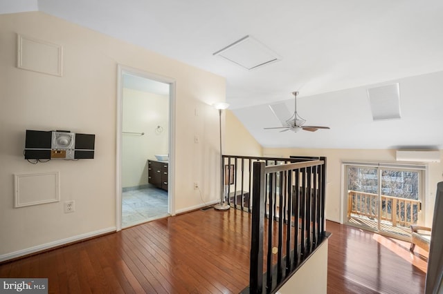
<path fill-rule="evenodd" d="M 424 168 L 345 164 L 345 223 L 405 239 L 424 220 Z"/>

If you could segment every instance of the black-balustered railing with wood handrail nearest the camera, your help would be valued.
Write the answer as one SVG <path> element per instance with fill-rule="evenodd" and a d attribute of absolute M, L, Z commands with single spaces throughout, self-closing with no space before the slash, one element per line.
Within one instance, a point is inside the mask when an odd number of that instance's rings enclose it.
<path fill-rule="evenodd" d="M 252 202 L 243 204 L 243 188 L 242 203 L 234 202 L 252 212 L 250 284 L 242 293 L 275 293 L 325 239 L 325 160 L 252 163 Z"/>

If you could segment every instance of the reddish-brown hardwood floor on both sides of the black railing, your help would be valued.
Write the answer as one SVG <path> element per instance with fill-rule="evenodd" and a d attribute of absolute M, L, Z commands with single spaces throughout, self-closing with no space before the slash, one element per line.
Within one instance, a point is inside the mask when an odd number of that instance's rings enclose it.
<path fill-rule="evenodd" d="M 239 293 L 250 226 L 240 210 L 196 210 L 0 264 L 0 277 L 47 277 L 49 293 Z M 333 222 L 327 231 L 328 293 L 423 292 L 419 249 Z"/>

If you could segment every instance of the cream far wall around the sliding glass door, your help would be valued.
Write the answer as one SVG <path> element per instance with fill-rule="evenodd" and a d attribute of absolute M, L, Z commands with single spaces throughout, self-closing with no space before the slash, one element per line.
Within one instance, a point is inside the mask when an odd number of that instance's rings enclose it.
<path fill-rule="evenodd" d="M 396 162 L 395 150 L 379 149 L 279 149 L 264 148 L 264 154 L 281 155 L 288 157 L 290 155 L 300 156 L 325 156 L 327 157 L 327 188 L 326 188 L 326 208 L 325 215 L 327 219 L 334 222 L 340 222 L 341 205 L 341 164 L 342 161 L 379 161 Z M 443 154 L 443 151 L 442 151 Z M 443 181 L 443 157 L 442 163 L 428 164 L 428 191 L 425 195 L 426 226 L 431 226 L 433 209 L 435 203 L 435 191 L 437 183 Z"/>

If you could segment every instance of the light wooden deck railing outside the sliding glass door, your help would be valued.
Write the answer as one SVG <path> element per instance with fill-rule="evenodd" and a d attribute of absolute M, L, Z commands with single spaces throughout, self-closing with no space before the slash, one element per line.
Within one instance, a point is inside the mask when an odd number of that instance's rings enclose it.
<path fill-rule="evenodd" d="M 352 214 L 377 219 L 379 215 L 379 195 L 348 191 L 347 217 Z M 417 224 L 417 213 L 421 203 L 415 199 L 381 195 L 380 219 L 392 222 L 392 226 Z"/>

